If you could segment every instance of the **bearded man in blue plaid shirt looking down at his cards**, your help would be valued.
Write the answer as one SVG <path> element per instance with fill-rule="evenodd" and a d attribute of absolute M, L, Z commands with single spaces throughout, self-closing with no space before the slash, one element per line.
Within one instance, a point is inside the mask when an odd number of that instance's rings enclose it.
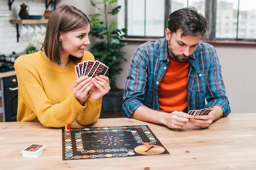
<path fill-rule="evenodd" d="M 165 38 L 137 48 L 124 91 L 128 118 L 182 129 L 187 122 L 205 128 L 228 116 L 216 50 L 200 41 L 206 33 L 207 20 L 187 7 L 171 13 Z M 208 115 L 193 118 L 187 114 L 207 107 L 213 109 Z"/>

